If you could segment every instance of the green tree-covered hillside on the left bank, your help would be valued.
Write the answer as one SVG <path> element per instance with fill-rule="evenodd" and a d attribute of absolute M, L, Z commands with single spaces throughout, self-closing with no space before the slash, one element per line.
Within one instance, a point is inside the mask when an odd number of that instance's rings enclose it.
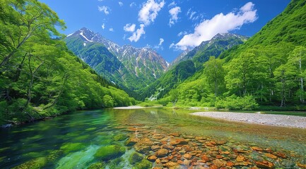
<path fill-rule="evenodd" d="M 67 49 L 55 28 L 64 22 L 48 6 L 10 0 L 0 8 L 0 124 L 134 103 Z"/>

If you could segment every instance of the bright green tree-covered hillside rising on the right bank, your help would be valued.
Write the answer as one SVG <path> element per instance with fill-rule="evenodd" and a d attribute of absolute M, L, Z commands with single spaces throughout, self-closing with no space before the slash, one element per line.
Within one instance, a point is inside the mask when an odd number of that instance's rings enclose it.
<path fill-rule="evenodd" d="M 305 109 L 305 9 L 305 1 L 291 1 L 245 44 L 212 57 L 163 101 L 177 98 L 182 105 L 230 109 Z"/>

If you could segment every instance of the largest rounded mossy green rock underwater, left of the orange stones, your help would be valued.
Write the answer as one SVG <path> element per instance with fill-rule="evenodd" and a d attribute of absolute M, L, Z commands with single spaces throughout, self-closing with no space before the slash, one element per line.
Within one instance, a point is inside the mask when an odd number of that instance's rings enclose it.
<path fill-rule="evenodd" d="M 95 157 L 100 158 L 102 161 L 108 161 L 112 158 L 118 158 L 125 153 L 124 146 L 119 145 L 109 145 L 102 146 L 95 153 Z"/>

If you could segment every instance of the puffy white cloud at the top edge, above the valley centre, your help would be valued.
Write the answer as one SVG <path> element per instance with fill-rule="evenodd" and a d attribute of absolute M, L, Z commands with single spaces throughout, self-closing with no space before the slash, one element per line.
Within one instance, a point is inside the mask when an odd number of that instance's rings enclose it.
<path fill-rule="evenodd" d="M 155 2 L 155 0 L 148 0 L 146 4 L 143 4 L 141 10 L 138 13 L 138 20 L 144 25 L 150 25 L 151 22 L 154 22 L 155 18 L 158 15 L 158 12 L 165 5 L 165 1 L 160 1 L 160 3 Z"/>

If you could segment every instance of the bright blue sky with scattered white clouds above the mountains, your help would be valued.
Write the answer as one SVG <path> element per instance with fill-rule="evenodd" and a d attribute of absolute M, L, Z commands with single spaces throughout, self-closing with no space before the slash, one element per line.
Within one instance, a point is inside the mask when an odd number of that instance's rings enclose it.
<path fill-rule="evenodd" d="M 66 23 L 69 35 L 82 27 L 124 45 L 149 46 L 173 61 L 213 35 L 251 37 L 290 0 L 40 0 Z"/>

